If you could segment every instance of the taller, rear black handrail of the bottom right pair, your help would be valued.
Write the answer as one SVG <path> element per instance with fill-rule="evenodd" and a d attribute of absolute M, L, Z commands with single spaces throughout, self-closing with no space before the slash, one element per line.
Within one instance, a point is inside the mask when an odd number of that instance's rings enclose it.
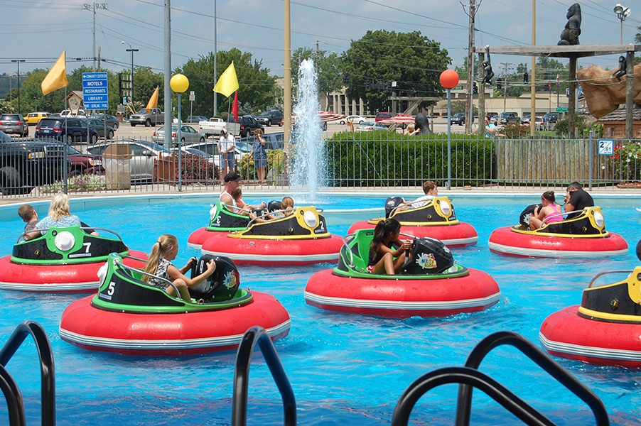
<path fill-rule="evenodd" d="M 563 367 L 547 356 L 544 351 L 534 346 L 532 342 L 515 332 L 496 332 L 490 334 L 481 340 L 472 349 L 465 361 L 465 367 L 478 369 L 481 361 L 492 349 L 497 346 L 509 344 L 519 349 L 525 356 L 534 361 L 538 366 L 543 368 L 550 376 L 556 378 L 559 383 L 568 388 L 578 398 L 590 407 L 597 426 L 610 425 L 608 413 L 605 405 L 598 396 L 588 389 L 583 383 L 572 376 Z M 468 426 L 470 424 L 470 411 L 472 408 L 472 391 L 473 388 L 468 384 L 461 384 L 458 388 L 458 406 L 456 409 L 456 426 Z"/>

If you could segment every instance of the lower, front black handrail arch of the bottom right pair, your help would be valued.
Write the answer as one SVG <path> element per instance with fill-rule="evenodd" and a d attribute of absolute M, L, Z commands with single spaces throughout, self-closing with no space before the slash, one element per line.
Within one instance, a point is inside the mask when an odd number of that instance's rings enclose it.
<path fill-rule="evenodd" d="M 468 367 L 439 368 L 416 379 L 404 391 L 394 408 L 392 426 L 406 426 L 416 401 L 432 388 L 448 383 L 465 383 L 460 386 L 479 388 L 527 425 L 554 426 L 554 422 L 551 422 L 505 386 L 490 376 Z"/>

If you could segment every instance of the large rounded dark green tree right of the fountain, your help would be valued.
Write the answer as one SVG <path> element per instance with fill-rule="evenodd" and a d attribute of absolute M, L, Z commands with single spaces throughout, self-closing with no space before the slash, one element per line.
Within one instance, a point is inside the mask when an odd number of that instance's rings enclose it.
<path fill-rule="evenodd" d="M 372 111 L 389 108 L 386 88 L 392 81 L 397 82 L 394 90 L 398 94 L 441 98 L 438 77 L 452 63 L 447 50 L 419 31 L 367 31 L 360 40 L 352 41 L 342 58 L 343 70 L 350 75 L 348 97 L 365 99 Z M 434 103 L 427 101 L 423 106 Z"/>

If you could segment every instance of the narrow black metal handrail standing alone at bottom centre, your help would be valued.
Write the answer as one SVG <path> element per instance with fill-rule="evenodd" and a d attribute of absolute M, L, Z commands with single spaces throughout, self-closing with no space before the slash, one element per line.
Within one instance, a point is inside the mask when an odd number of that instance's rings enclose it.
<path fill-rule="evenodd" d="M 249 364 L 252 361 L 254 346 L 258 346 L 269 367 L 271 376 L 283 398 L 284 425 L 296 425 L 296 398 L 281 364 L 274 343 L 263 327 L 254 326 L 245 332 L 236 354 L 234 371 L 234 394 L 232 400 L 232 426 L 247 424 L 247 388 L 249 387 Z"/>

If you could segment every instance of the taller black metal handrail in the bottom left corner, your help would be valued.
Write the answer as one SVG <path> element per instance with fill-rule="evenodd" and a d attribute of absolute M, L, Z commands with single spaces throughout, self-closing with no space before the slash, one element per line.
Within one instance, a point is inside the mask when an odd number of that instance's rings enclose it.
<path fill-rule="evenodd" d="M 21 322 L 11 334 L 9 340 L 0 349 L 0 366 L 3 366 L 3 368 L 6 366 L 28 334 L 31 334 L 36 342 L 38 358 L 40 359 L 42 425 L 55 426 L 55 367 L 53 365 L 53 351 L 45 329 L 35 321 L 26 320 Z M 23 424 L 24 422 L 16 422 L 16 425 Z M 11 425 L 14 425 L 14 423 L 11 423 Z"/>

